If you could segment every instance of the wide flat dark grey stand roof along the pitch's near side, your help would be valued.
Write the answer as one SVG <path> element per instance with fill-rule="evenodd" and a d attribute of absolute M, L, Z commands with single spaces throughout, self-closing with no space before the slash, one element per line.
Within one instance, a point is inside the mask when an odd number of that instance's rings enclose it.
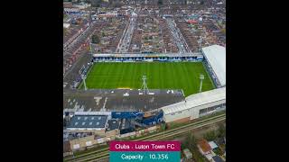
<path fill-rule="evenodd" d="M 113 93 L 112 93 L 113 92 Z M 182 90 L 150 89 L 151 94 L 140 95 L 137 89 L 89 89 L 64 92 L 63 108 L 73 109 L 76 102 L 84 105 L 84 112 L 147 112 L 184 101 Z M 124 96 L 128 93 L 129 96 Z M 68 103 L 68 100 L 75 100 Z M 105 108 L 105 109 L 103 109 Z"/>

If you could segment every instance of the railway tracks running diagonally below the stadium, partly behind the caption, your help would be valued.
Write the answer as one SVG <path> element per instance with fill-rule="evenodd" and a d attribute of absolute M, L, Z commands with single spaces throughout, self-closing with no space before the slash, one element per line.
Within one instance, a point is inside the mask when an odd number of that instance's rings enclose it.
<path fill-rule="evenodd" d="M 170 137 L 182 134 L 188 130 L 195 130 L 195 129 L 210 125 L 212 123 L 215 123 L 218 121 L 224 121 L 224 120 L 226 120 L 226 114 L 220 114 L 220 115 L 212 116 L 210 118 L 207 118 L 207 119 L 204 119 L 201 121 L 192 122 L 192 123 L 183 125 L 181 127 L 177 127 L 175 129 L 172 129 L 172 130 L 164 130 L 164 131 L 161 131 L 161 132 L 149 135 L 149 136 L 145 136 L 145 137 L 140 138 L 140 139 L 135 139 L 135 140 L 166 139 L 166 138 L 170 138 Z M 100 159 L 105 159 L 108 157 L 109 157 L 109 150 L 107 147 L 107 148 L 102 148 L 99 150 L 91 151 L 89 153 L 81 154 L 81 155 L 76 156 L 76 157 L 68 157 L 68 158 L 65 158 L 64 161 L 78 161 L 78 162 L 98 161 Z"/>

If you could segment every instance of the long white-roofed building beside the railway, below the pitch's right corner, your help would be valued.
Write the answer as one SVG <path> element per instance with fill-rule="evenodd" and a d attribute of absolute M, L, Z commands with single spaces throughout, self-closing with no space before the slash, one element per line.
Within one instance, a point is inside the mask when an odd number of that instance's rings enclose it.
<path fill-rule="evenodd" d="M 226 86 L 200 94 L 191 94 L 185 101 L 161 108 L 163 121 L 190 121 L 226 109 Z"/>

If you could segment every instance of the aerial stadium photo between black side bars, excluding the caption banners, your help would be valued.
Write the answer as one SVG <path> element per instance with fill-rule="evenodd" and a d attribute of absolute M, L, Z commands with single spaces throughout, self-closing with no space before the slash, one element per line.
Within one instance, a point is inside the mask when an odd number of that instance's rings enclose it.
<path fill-rule="evenodd" d="M 113 140 L 178 140 L 182 161 L 226 161 L 225 0 L 63 8 L 64 161 L 109 161 Z"/>

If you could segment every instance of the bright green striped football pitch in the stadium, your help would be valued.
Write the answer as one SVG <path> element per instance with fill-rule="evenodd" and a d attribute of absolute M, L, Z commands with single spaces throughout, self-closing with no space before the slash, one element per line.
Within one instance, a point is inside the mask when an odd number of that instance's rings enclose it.
<path fill-rule="evenodd" d="M 86 79 L 88 88 L 139 89 L 146 76 L 149 89 L 182 89 L 184 94 L 196 94 L 200 88 L 200 74 L 205 76 L 202 91 L 214 88 L 201 62 L 137 62 L 95 63 Z"/>

